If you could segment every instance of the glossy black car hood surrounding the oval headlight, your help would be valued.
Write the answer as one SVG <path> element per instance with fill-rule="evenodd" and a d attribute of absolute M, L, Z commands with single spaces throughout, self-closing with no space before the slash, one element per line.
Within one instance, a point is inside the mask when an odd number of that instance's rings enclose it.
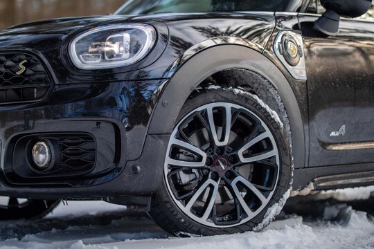
<path fill-rule="evenodd" d="M 56 84 L 161 78 L 179 56 L 206 39 L 220 36 L 244 37 L 258 44 L 259 49 L 264 48 L 274 30 L 274 20 L 274 12 L 165 13 L 51 19 L 0 31 L 0 53 L 36 55 L 50 68 Z M 69 45 L 75 37 L 91 28 L 131 23 L 150 24 L 157 30 L 158 42 L 152 49 L 152 55 L 137 64 L 121 68 L 89 71 L 80 70 L 73 65 Z M 159 59 L 161 55 L 162 59 Z M 143 69 L 156 61 L 159 63 L 154 65 L 152 72 Z M 111 76 L 110 79 L 108 75 Z"/>

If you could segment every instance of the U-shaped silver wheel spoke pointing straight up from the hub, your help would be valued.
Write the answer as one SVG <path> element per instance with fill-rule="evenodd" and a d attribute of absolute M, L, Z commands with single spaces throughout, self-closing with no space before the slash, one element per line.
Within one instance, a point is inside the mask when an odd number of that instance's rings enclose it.
<path fill-rule="evenodd" d="M 219 139 L 217 136 L 217 129 L 215 129 L 215 122 L 213 117 L 213 109 L 214 107 L 210 107 L 207 109 L 208 112 L 208 120 L 209 126 L 211 127 L 211 133 L 217 146 L 226 146 L 229 143 L 230 138 L 230 130 L 231 130 L 231 107 L 224 107 L 225 118 L 222 120 L 224 125 L 222 127 L 222 133 L 224 133 L 224 140 Z"/>

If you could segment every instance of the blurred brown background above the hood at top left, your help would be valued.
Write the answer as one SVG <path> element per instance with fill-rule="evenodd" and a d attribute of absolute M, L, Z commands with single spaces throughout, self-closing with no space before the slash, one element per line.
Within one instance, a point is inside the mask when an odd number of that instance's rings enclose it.
<path fill-rule="evenodd" d="M 106 15 L 126 0 L 0 0 L 0 30 L 15 24 L 57 17 Z"/>

